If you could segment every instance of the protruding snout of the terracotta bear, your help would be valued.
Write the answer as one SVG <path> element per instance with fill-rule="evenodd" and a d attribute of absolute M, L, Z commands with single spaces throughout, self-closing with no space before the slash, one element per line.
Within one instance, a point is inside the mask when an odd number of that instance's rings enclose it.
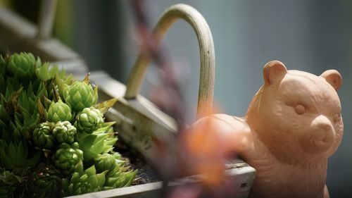
<path fill-rule="evenodd" d="M 311 125 L 310 141 L 317 149 L 328 149 L 334 142 L 335 130 L 331 121 L 323 115 L 316 117 Z"/>

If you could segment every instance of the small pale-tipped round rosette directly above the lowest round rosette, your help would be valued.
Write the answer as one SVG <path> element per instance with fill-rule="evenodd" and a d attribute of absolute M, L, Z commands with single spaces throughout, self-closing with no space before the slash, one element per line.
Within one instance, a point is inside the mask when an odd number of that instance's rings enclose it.
<path fill-rule="evenodd" d="M 53 135 L 57 142 L 72 143 L 75 140 L 76 128 L 69 122 L 63 121 L 56 123 Z"/>

